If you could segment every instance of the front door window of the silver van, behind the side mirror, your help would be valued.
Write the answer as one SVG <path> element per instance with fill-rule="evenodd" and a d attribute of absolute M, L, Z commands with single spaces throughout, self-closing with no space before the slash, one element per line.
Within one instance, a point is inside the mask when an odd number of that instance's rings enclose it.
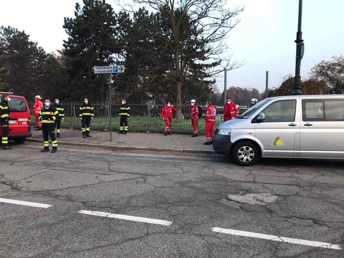
<path fill-rule="evenodd" d="M 265 114 L 264 122 L 294 122 L 295 110 L 295 99 L 276 101 L 262 111 Z"/>

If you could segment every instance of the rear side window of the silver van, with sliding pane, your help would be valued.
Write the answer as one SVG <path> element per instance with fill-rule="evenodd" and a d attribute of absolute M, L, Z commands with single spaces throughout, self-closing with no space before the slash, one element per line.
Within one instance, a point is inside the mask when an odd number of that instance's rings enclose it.
<path fill-rule="evenodd" d="M 344 99 L 303 99 L 303 121 L 344 121 Z"/>

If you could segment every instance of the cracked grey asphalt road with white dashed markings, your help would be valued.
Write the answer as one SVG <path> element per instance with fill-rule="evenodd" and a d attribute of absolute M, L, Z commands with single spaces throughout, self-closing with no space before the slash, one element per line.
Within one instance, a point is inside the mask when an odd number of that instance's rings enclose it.
<path fill-rule="evenodd" d="M 344 257 L 343 161 L 41 147 L 0 151 L 1 258 Z"/>

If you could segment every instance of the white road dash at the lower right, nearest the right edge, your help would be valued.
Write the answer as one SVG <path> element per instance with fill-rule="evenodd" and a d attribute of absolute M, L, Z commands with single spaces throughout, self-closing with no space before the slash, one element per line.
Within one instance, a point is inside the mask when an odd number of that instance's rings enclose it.
<path fill-rule="evenodd" d="M 213 227 L 212 231 L 218 232 L 218 233 L 225 233 L 229 235 L 235 235 L 235 236 L 255 237 L 255 238 L 260 238 L 260 239 L 285 242 L 285 243 L 291 243 L 291 244 L 316 246 L 316 247 L 322 247 L 322 248 L 342 250 L 342 247 L 340 245 L 333 245 L 330 243 L 309 241 L 309 240 L 303 240 L 303 239 L 297 239 L 297 238 L 279 237 L 279 236 L 259 234 L 259 233 L 254 233 L 254 232 L 240 231 L 240 230 L 226 229 L 226 228 L 219 228 L 219 227 Z"/>

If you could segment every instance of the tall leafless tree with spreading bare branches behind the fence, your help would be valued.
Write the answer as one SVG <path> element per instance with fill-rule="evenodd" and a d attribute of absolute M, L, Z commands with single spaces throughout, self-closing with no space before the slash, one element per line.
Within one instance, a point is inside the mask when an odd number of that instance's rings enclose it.
<path fill-rule="evenodd" d="M 147 28 L 147 33 L 173 56 L 172 62 L 169 60 L 170 63 L 164 64 L 169 71 L 169 76 L 164 75 L 164 79 L 175 84 L 179 107 L 185 79 L 196 77 L 202 80 L 224 69 L 232 70 L 243 65 L 243 61 L 232 61 L 225 42 L 229 31 L 238 24 L 238 15 L 243 7 L 227 8 L 223 0 L 133 2 L 145 4 L 161 15 L 161 27 L 165 26 L 165 29 Z M 178 111 L 177 117 L 180 117 L 181 110 Z"/>

